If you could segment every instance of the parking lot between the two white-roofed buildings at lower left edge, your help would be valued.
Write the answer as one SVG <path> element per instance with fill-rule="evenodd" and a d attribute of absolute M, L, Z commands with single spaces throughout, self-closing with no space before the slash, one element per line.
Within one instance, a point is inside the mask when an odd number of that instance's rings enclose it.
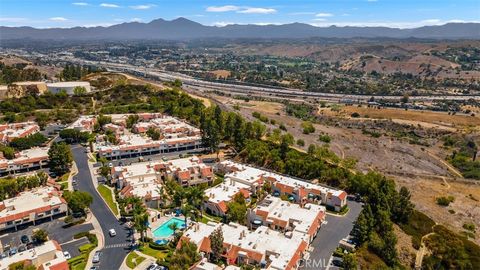
<path fill-rule="evenodd" d="M 93 230 L 93 226 L 90 223 L 79 224 L 69 228 L 63 228 L 62 226 L 64 224 L 65 223 L 63 222 L 63 220 L 55 219 L 53 221 L 45 222 L 37 226 L 29 226 L 16 232 L 2 232 L 2 235 L 0 236 L 0 242 L 2 243 L 3 247 L 20 247 L 23 245 L 20 240 L 22 235 L 27 235 L 31 238 L 35 229 L 43 229 L 48 233 L 48 237 L 50 239 L 56 240 L 60 245 L 62 245 L 66 242 L 72 241 L 73 236 L 77 233 Z M 67 249 L 65 250 L 70 252 L 70 254 L 72 254 L 73 256 L 73 254 L 78 253 L 78 247 L 77 250 L 75 250 L 75 247 L 76 245 L 69 244 L 67 245 Z"/>

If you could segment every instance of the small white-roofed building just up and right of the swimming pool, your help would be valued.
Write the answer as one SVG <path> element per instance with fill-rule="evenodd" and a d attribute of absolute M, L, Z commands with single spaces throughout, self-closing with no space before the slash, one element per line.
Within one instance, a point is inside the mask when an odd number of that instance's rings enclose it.
<path fill-rule="evenodd" d="M 237 194 L 242 194 L 245 199 L 248 199 L 251 195 L 250 186 L 230 179 L 208 188 L 205 190 L 207 197 L 204 203 L 205 211 L 216 216 L 226 216 L 228 203 L 233 201 Z"/>

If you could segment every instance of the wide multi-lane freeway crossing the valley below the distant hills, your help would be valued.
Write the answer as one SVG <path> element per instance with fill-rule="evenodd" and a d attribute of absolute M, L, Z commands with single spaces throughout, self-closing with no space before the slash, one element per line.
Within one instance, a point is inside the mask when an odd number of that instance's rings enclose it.
<path fill-rule="evenodd" d="M 306 92 L 292 88 L 281 87 L 266 87 L 266 86 L 251 86 L 244 84 L 220 83 L 199 80 L 194 77 L 176 73 L 161 71 L 154 68 L 137 67 L 129 64 L 119 64 L 105 61 L 88 61 L 78 58 L 69 59 L 71 62 L 77 64 L 98 65 L 105 67 L 110 71 L 127 72 L 140 76 L 148 76 L 162 81 L 173 81 L 180 79 L 184 86 L 196 91 L 220 91 L 224 93 L 236 93 L 240 95 L 257 94 L 260 96 L 275 96 L 286 99 L 291 98 L 311 98 L 311 99 L 325 99 L 325 100 L 352 100 L 367 102 L 373 97 L 375 100 L 389 100 L 399 101 L 402 96 L 388 96 L 388 95 L 352 95 L 352 94 L 335 94 L 335 93 L 321 93 L 321 92 Z M 410 101 L 439 101 L 439 100 L 456 100 L 464 101 L 474 99 L 480 101 L 480 95 L 430 95 L 430 96 L 411 96 Z"/>

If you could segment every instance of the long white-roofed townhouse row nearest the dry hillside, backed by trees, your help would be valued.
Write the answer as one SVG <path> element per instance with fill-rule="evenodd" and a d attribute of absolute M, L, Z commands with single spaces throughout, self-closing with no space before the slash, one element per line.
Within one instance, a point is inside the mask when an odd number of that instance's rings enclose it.
<path fill-rule="evenodd" d="M 230 160 L 221 162 L 218 169 L 225 173 L 225 181 L 232 180 L 248 185 L 252 193 L 268 182 L 272 187 L 273 195 L 287 196 L 290 201 L 300 205 L 321 203 L 339 211 L 347 204 L 347 193 L 343 190 L 313 184 Z"/>

